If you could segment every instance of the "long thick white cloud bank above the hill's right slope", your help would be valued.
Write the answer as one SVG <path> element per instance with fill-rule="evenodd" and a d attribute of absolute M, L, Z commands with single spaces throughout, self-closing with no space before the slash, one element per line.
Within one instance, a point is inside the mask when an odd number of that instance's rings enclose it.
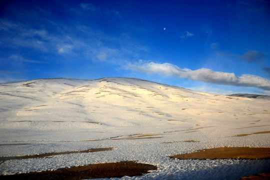
<path fill-rule="evenodd" d="M 242 74 L 237 76 L 234 73 L 218 72 L 208 68 L 191 70 L 180 68 L 170 63 L 139 63 L 129 64 L 127 68 L 145 73 L 160 73 L 178 78 L 193 79 L 213 84 L 235 85 L 246 87 L 258 87 L 264 90 L 270 90 L 270 81 L 251 74 Z"/>

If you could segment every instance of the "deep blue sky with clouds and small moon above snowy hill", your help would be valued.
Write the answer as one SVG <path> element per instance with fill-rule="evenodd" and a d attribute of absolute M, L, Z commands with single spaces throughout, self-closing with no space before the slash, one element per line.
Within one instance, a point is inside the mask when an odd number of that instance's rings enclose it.
<path fill-rule="evenodd" d="M 1 0 L 0 83 L 135 77 L 270 94 L 267 0 Z"/>

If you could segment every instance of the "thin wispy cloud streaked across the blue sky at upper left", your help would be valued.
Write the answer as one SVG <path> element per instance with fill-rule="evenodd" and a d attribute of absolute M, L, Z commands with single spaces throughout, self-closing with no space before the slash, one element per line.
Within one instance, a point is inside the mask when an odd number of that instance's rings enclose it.
<path fill-rule="evenodd" d="M 79 3 L 74 9 L 79 12 L 79 15 L 74 16 L 74 19 L 68 23 L 56 22 L 53 18 L 44 18 L 41 12 L 32 9 L 28 14 L 34 15 L 24 18 L 33 18 L 32 21 L 38 19 L 39 24 L 42 24 L 38 27 L 32 25 L 31 20 L 28 23 L 21 23 L 12 18 L 0 18 L 0 33 L 4 34 L 0 36 L 1 47 L 15 48 L 18 51 L 22 48 L 38 51 L 38 54 L 42 54 L 42 56 L 36 58 L 52 56 L 52 58 L 60 60 L 61 58 L 56 57 L 68 56 L 70 60 L 80 58 L 92 61 L 120 61 L 126 55 L 131 56 L 130 54 L 144 51 L 139 49 L 139 46 L 132 43 L 130 39 L 119 38 L 93 28 L 91 22 L 87 24 L 81 22 L 82 19 L 86 20 L 88 16 L 91 16 L 88 12 L 94 12 L 97 17 L 106 18 L 113 15 L 118 19 L 120 18 L 118 11 L 108 8 L 101 9 L 91 3 Z M 74 9 L 69 10 L 75 12 Z M 24 11 L 27 11 L 27 9 L 24 9 Z M 42 12 L 49 15 L 53 14 L 49 10 L 43 10 Z M 81 38 L 82 36 L 83 38 Z M 10 55 L 8 56 L 10 57 Z M 20 58 L 20 61 L 23 61 L 22 58 Z M 24 59 L 24 61 L 26 62 L 27 59 Z"/>

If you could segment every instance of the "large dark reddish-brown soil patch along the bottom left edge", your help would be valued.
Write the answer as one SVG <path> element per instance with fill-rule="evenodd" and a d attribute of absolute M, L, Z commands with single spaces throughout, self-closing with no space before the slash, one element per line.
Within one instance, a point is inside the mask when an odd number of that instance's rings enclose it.
<path fill-rule="evenodd" d="M 2 175 L 4 179 L 86 179 L 104 177 L 135 176 L 155 170 L 155 165 L 137 163 L 136 161 L 123 161 L 111 163 L 89 164 L 84 166 L 57 169 L 53 171 L 30 172 L 13 175 Z"/>

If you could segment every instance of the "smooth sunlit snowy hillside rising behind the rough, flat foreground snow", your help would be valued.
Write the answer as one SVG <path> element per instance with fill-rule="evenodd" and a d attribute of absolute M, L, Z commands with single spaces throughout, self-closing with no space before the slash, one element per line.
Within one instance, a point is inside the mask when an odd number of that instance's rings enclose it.
<path fill-rule="evenodd" d="M 265 124 L 270 117 L 268 100 L 211 95 L 133 78 L 1 84 L 0 100 L 1 140 L 81 140 L 111 133 L 234 128 L 256 120 Z M 35 131 L 38 135 L 32 136 Z"/>

